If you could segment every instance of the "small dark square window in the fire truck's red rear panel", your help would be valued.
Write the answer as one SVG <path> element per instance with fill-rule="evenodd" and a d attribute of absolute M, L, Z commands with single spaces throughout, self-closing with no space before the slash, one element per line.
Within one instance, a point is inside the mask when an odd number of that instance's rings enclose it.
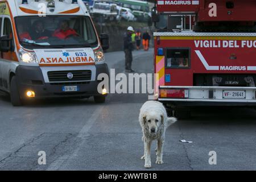
<path fill-rule="evenodd" d="M 167 49 L 166 68 L 189 68 L 190 56 L 189 49 Z"/>

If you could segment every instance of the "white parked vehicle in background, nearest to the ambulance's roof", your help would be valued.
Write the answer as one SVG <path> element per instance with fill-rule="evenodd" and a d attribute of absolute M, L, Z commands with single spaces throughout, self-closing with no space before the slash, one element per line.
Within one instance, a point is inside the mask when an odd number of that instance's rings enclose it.
<path fill-rule="evenodd" d="M 113 21 L 117 17 L 117 5 L 114 3 L 96 2 L 93 8 L 90 9 L 90 14 L 93 18 L 104 17 L 105 20 Z"/>

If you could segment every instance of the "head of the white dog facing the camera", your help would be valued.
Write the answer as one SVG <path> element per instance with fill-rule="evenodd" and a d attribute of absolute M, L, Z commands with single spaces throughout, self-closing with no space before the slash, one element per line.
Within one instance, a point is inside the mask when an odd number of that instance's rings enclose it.
<path fill-rule="evenodd" d="M 158 129 L 163 125 L 164 117 L 160 113 L 150 112 L 143 115 L 144 125 L 147 126 L 148 132 L 155 134 L 158 132 Z"/>

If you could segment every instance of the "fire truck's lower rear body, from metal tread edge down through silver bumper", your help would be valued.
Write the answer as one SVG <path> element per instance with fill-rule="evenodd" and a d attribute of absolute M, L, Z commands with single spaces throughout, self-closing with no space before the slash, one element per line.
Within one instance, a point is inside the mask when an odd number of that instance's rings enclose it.
<path fill-rule="evenodd" d="M 256 33 L 155 32 L 158 100 L 255 106 Z"/>

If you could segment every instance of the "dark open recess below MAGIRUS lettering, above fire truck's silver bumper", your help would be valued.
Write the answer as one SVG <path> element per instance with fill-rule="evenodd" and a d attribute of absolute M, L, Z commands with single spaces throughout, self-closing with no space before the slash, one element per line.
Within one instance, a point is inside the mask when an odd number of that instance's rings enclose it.
<path fill-rule="evenodd" d="M 255 86 L 255 74 L 193 74 L 193 86 Z"/>

